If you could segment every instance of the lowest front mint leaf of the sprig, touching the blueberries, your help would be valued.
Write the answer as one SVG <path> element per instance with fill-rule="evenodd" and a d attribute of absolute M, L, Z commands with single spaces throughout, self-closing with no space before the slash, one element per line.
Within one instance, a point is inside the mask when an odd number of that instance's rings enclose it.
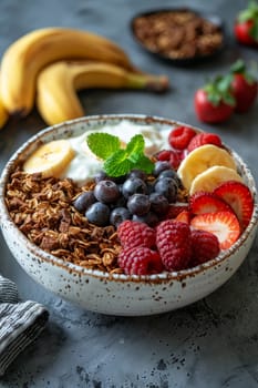
<path fill-rule="evenodd" d="M 133 167 L 134 163 L 127 159 L 124 150 L 118 150 L 109 156 L 103 165 L 105 173 L 114 177 L 127 174 Z"/>

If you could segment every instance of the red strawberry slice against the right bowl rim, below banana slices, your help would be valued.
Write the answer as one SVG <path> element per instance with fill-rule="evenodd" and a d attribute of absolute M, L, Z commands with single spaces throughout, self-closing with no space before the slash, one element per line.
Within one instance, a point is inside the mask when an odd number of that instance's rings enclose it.
<path fill-rule="evenodd" d="M 245 229 L 250 222 L 254 210 L 254 198 L 249 187 L 241 182 L 228 181 L 216 187 L 214 194 L 231 206 L 241 229 Z"/>

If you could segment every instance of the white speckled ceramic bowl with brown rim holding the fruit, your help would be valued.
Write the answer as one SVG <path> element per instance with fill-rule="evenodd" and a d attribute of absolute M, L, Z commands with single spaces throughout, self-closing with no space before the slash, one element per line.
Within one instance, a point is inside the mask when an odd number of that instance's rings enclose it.
<path fill-rule="evenodd" d="M 9 216 L 4 193 L 9 176 L 17 163 L 23 161 L 41 142 L 80 135 L 99 124 L 117 123 L 126 119 L 141 124 L 154 124 L 157 130 L 182 123 L 144 115 L 100 115 L 70 121 L 41 131 L 23 144 L 10 159 L 1 175 L 0 222 L 3 237 L 18 263 L 38 283 L 64 299 L 93 312 L 140 316 L 165 313 L 189 305 L 221 286 L 240 266 L 256 235 L 258 223 L 257 192 L 254 177 L 245 162 L 233 153 L 239 172 L 249 186 L 255 207 L 251 221 L 227 252 L 215 259 L 178 273 L 149 276 L 126 276 L 89 270 L 56 258 L 38 246 L 18 229 Z M 197 129 L 196 129 L 197 130 Z"/>

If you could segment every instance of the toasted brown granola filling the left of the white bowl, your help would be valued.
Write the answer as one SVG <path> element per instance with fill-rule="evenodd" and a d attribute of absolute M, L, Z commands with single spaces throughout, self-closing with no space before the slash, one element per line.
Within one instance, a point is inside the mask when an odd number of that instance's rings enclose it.
<path fill-rule="evenodd" d="M 115 227 L 90 224 L 72 205 L 90 187 L 18 169 L 7 185 L 6 203 L 19 229 L 43 251 L 89 269 L 122 273 Z"/>

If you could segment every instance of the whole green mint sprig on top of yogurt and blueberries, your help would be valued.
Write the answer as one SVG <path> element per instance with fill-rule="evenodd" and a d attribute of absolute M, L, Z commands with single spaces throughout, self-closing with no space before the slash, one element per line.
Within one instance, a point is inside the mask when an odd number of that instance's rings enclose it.
<path fill-rule="evenodd" d="M 153 172 L 154 163 L 144 154 L 142 134 L 133 136 L 124 149 L 120 137 L 103 132 L 91 133 L 86 142 L 89 149 L 104 161 L 103 170 L 109 176 L 122 176 L 133 169 L 140 169 L 147 174 Z"/>

